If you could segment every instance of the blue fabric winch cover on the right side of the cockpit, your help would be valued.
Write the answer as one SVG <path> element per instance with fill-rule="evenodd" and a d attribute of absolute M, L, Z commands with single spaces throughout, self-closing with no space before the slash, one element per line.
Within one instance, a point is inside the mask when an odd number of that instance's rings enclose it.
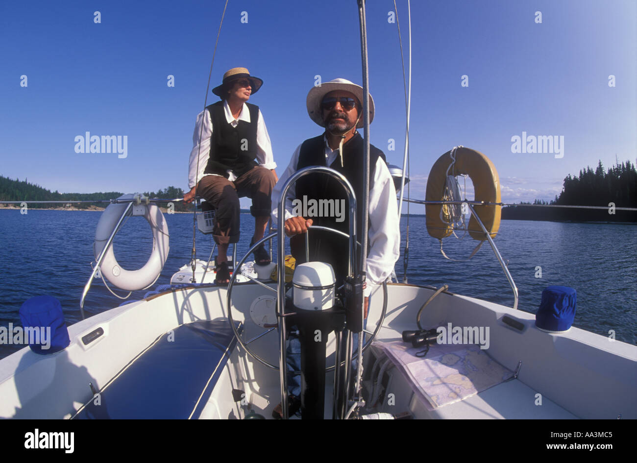
<path fill-rule="evenodd" d="M 563 332 L 573 325 L 576 304 L 575 289 L 568 286 L 548 286 L 535 314 L 535 325 L 542 331 Z"/>

